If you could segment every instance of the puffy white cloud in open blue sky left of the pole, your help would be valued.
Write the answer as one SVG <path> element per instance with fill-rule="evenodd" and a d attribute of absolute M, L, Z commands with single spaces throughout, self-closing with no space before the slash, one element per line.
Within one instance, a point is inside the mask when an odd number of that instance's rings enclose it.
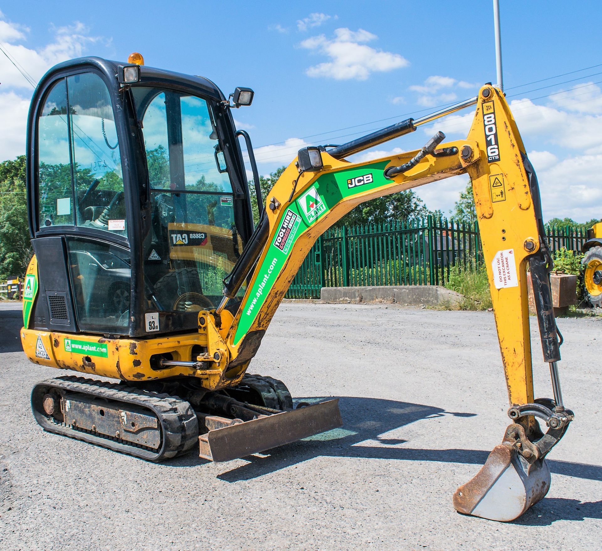
<path fill-rule="evenodd" d="M 309 67 L 305 74 L 337 80 L 366 80 L 370 73 L 388 72 L 408 66 L 408 60 L 402 55 L 383 52 L 365 45 L 365 42 L 376 39 L 375 34 L 363 29 L 351 31 L 347 28 L 339 28 L 335 30 L 334 39 L 327 39 L 320 34 L 303 40 L 300 44 L 301 48 L 326 55 L 330 59 Z"/>

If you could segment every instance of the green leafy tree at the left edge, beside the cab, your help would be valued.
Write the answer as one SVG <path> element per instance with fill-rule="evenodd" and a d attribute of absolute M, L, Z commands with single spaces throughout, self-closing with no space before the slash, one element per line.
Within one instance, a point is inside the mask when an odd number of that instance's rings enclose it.
<path fill-rule="evenodd" d="M 0 278 L 23 276 L 33 252 L 25 200 L 25 155 L 0 163 Z"/>

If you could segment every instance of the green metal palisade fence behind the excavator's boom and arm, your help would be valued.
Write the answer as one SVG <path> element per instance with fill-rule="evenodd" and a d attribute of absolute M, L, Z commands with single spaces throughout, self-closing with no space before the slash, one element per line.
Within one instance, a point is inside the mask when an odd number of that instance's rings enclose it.
<path fill-rule="evenodd" d="M 548 244 L 581 251 L 583 228 L 546 228 Z M 318 238 L 287 298 L 318 299 L 322 287 L 444 285 L 450 267 L 483 262 L 479 225 L 455 220 L 391 220 L 331 228 Z"/>

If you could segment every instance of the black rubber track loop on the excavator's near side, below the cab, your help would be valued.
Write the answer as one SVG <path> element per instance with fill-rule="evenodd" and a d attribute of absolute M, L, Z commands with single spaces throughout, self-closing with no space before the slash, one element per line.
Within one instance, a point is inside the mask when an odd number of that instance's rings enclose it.
<path fill-rule="evenodd" d="M 49 421 L 48 417 L 40 412 L 42 409 L 36 408 L 33 403 L 36 389 L 44 386 L 58 387 L 68 392 L 84 393 L 113 402 L 135 404 L 150 409 L 157 416 L 160 423 L 160 449 L 153 450 L 149 447 L 127 443 L 125 440 L 118 438 L 72 429 L 66 423 L 60 423 L 57 420 Z M 178 397 L 169 396 L 169 394 L 158 394 L 139 388 L 125 387 L 120 384 L 95 381 L 94 379 L 65 376 L 48 379 L 36 384 L 32 391 L 32 409 L 37 422 L 48 432 L 69 436 L 90 444 L 97 444 L 116 452 L 127 453 L 149 461 L 158 462 L 181 455 L 190 450 L 194 444 L 198 444 L 199 425 L 193 408 L 188 402 Z"/>

